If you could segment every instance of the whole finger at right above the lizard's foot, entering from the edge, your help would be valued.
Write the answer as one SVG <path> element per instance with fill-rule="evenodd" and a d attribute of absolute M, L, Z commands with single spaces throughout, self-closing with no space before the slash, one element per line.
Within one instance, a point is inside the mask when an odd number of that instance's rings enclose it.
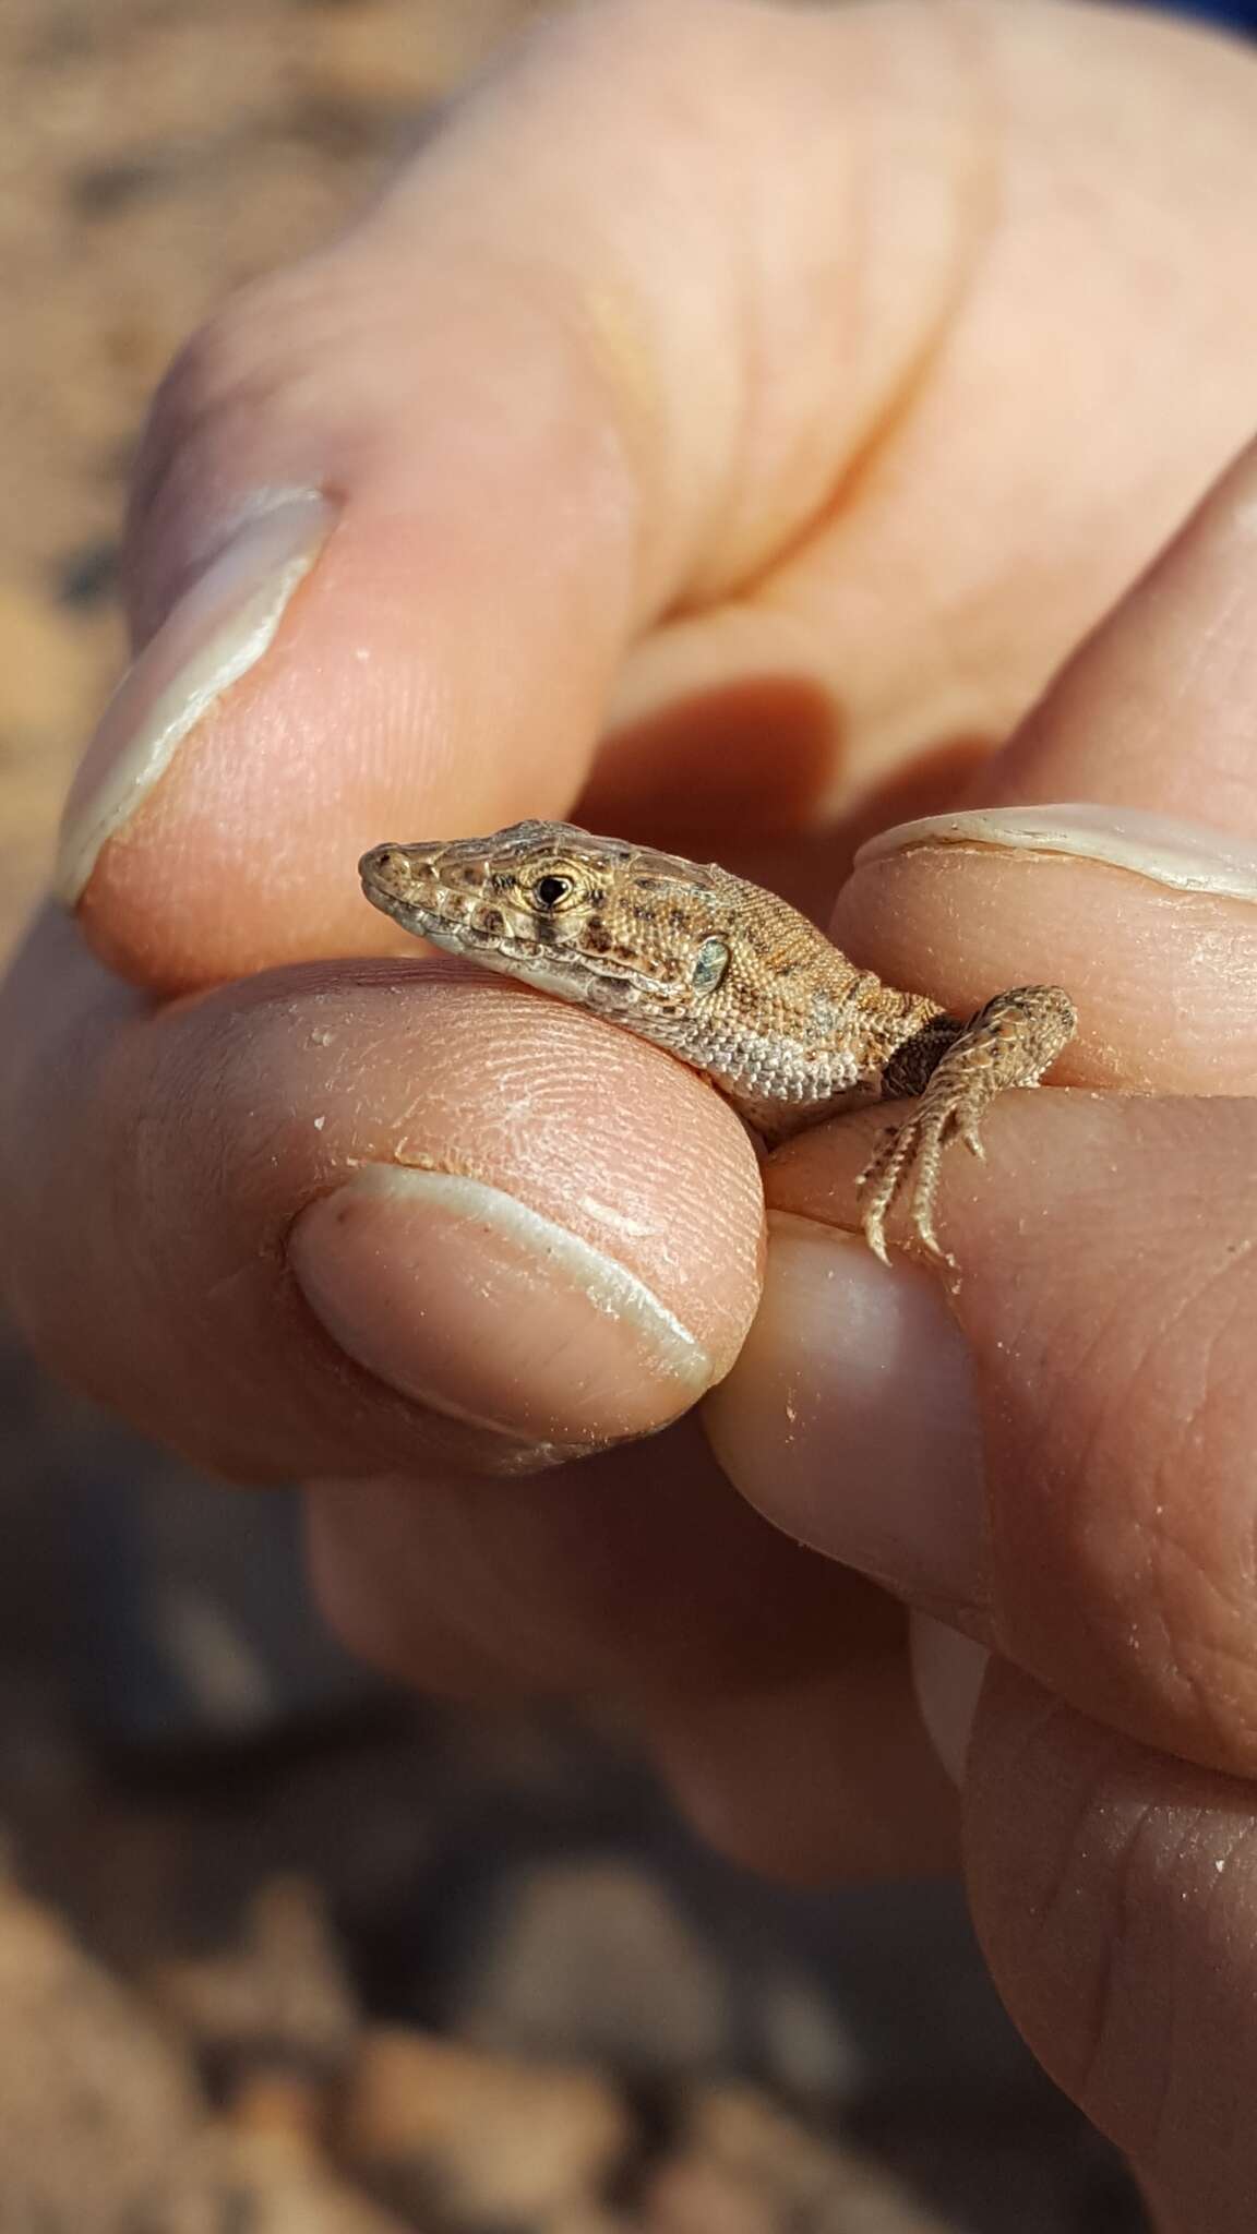
<path fill-rule="evenodd" d="M 892 983 L 919 981 L 926 956 L 930 992 L 960 1012 L 1000 985 L 1067 985 L 1083 1030 L 1058 1077 L 1253 1092 L 1255 523 L 1257 445 L 1069 663 L 973 809 L 866 849 L 839 945 Z"/>

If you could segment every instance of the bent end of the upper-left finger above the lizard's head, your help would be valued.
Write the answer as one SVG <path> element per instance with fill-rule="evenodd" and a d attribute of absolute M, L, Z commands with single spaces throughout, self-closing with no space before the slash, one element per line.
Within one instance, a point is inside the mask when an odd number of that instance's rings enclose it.
<path fill-rule="evenodd" d="M 423 226 L 412 331 L 382 232 L 228 306 L 163 395 L 130 554 L 159 626 L 58 869 L 96 949 L 157 990 L 396 952 L 358 856 L 564 811 L 595 746 L 635 563 L 597 382 L 544 306 L 467 299 Z"/>

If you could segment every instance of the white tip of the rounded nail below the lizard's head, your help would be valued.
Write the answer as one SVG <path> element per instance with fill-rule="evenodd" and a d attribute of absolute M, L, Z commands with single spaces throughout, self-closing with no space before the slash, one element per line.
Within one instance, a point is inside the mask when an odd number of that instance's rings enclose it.
<path fill-rule="evenodd" d="M 637 1327 L 669 1374 L 687 1387 L 709 1387 L 711 1358 L 675 1311 L 669 1311 L 667 1302 L 660 1302 L 637 1273 L 604 1256 L 570 1226 L 559 1226 L 541 1211 L 519 1202 L 517 1195 L 505 1195 L 483 1180 L 463 1177 L 463 1173 L 420 1171 L 407 1164 L 367 1164 L 347 1182 L 344 1191 L 376 1200 L 391 1195 L 403 1202 L 432 1202 L 456 1218 L 505 1233 L 537 1264 L 566 1273 L 597 1311 Z"/>

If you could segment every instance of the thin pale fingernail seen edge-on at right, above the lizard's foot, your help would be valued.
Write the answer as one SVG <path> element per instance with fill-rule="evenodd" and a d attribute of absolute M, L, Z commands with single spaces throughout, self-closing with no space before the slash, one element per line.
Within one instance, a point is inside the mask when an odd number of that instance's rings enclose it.
<path fill-rule="evenodd" d="M 870 838 L 854 858 L 857 869 L 895 853 L 960 847 L 1006 853 L 1074 853 L 1130 869 L 1176 891 L 1212 891 L 1230 900 L 1257 900 L 1257 851 L 1206 822 L 1143 813 L 1136 806 L 991 806 L 960 815 L 926 815 L 899 822 Z"/>

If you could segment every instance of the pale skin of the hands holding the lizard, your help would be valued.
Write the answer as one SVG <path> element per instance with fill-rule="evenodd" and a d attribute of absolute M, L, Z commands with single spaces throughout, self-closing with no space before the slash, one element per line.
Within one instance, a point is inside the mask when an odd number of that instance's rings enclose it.
<path fill-rule="evenodd" d="M 830 1877 L 951 1852 L 904 1606 L 993 1649 L 977 1926 L 1165 2234 L 1257 2194 L 1255 192 L 1257 60 L 1168 20 L 577 11 L 177 366 L 78 920 L 0 1005 L 20 1323 L 201 1463 L 311 1479 L 362 1651 L 615 1696 L 711 1839 Z M 955 1298 L 850 1244 L 877 1117 L 787 1146 L 749 1340 L 727 1106 L 403 958 L 356 880 L 575 815 L 825 911 L 852 824 L 957 800 L 1004 820 L 883 847 L 834 938 L 955 1012 L 1067 985 L 1100 1090 L 951 1164 Z M 1060 800 L 1105 831 L 1020 842 Z M 1212 824 L 1194 873 L 1147 813 Z"/>

